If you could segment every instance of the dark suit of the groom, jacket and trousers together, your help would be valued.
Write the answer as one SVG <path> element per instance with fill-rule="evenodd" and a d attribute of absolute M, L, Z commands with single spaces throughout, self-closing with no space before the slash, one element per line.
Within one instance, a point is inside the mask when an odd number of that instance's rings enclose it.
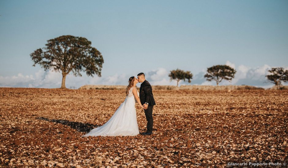
<path fill-rule="evenodd" d="M 143 81 L 140 86 L 139 97 L 141 104 L 148 103 L 148 108 L 145 110 L 145 116 L 147 120 L 147 131 L 148 133 L 152 133 L 153 130 L 153 106 L 156 105 L 153 93 L 152 86 L 148 81 Z"/>

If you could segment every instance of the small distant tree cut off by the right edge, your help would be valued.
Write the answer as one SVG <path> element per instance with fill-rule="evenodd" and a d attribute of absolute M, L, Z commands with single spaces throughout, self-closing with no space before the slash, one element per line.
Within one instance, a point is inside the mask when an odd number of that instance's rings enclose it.
<path fill-rule="evenodd" d="M 288 70 L 284 71 L 284 68 L 272 68 L 268 72 L 272 73 L 272 75 L 266 75 L 266 77 L 275 86 L 281 85 L 281 81 L 288 82 Z"/>

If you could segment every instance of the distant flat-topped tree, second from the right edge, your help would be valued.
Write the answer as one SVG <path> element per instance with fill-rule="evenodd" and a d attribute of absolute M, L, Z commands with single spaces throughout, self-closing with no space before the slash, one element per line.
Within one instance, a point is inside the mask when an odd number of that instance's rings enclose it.
<path fill-rule="evenodd" d="M 204 75 L 204 78 L 207 78 L 207 81 L 215 80 L 218 86 L 222 79 L 231 81 L 235 73 L 236 70 L 228 65 L 215 65 L 207 68 L 207 74 Z"/>

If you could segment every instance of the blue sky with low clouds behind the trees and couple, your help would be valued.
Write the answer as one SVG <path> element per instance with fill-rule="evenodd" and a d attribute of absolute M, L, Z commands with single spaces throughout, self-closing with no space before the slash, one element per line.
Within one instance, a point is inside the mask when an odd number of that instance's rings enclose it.
<path fill-rule="evenodd" d="M 67 87 L 126 85 L 138 72 L 152 84 L 175 85 L 168 73 L 176 68 L 193 73 L 189 84 L 215 85 L 203 75 L 216 64 L 238 74 L 220 85 L 268 87 L 267 70 L 288 67 L 286 0 L 2 0 L 0 15 L 2 87 L 59 87 L 61 75 L 32 67 L 30 53 L 61 35 L 87 38 L 104 57 L 101 78 L 70 74 Z"/>

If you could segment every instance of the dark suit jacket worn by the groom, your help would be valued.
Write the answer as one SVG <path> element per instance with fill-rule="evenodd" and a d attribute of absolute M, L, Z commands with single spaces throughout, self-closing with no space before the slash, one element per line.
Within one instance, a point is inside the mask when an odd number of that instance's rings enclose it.
<path fill-rule="evenodd" d="M 148 103 L 148 106 L 156 105 L 153 93 L 152 86 L 148 81 L 143 81 L 140 86 L 139 98 L 141 104 Z"/>

